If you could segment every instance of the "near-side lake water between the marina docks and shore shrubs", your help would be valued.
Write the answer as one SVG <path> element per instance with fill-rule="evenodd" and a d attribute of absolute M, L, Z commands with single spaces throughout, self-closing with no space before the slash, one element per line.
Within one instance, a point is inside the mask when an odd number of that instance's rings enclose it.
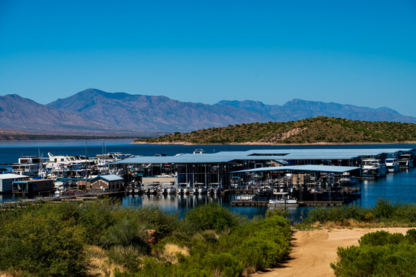
<path fill-rule="evenodd" d="M 363 180 L 358 182 L 361 187 L 361 199 L 353 204 L 370 208 L 374 206 L 379 197 L 390 199 L 392 202 L 416 203 L 416 169 L 401 170 L 378 180 Z M 28 197 L 28 196 L 26 196 Z M 139 208 L 142 206 L 159 206 L 168 213 L 178 213 L 180 217 L 191 208 L 218 203 L 231 211 L 252 218 L 256 215 L 264 215 L 268 209 L 265 206 L 231 206 L 231 200 L 235 195 L 128 195 L 122 197 L 124 207 Z M 0 194 L 0 203 L 17 201 L 19 197 L 12 194 Z M 302 213 L 306 215 L 311 208 L 288 208 L 290 216 L 300 221 Z"/>

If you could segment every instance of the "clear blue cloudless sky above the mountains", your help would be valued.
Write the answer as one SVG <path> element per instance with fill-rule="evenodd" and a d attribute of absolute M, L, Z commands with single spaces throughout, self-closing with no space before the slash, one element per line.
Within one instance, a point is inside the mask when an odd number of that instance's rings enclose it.
<path fill-rule="evenodd" d="M 416 1 L 0 0 L 0 95 L 87 88 L 416 116 Z"/>

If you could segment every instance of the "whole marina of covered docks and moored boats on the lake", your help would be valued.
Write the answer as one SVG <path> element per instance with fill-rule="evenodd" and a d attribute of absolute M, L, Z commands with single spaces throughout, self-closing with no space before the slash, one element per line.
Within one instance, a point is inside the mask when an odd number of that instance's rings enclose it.
<path fill-rule="evenodd" d="M 103 143 L 96 145 L 96 148 L 97 146 L 101 146 L 101 152 L 107 148 L 103 147 Z M 1 202 L 16 201 L 24 197 L 35 198 L 40 195 L 43 195 L 45 202 L 62 199 L 78 201 L 77 197 L 69 195 L 69 192 L 89 193 L 88 187 L 89 190 L 103 195 L 112 191 L 121 199 L 132 197 L 131 199 L 146 199 L 150 202 L 153 202 L 153 199 L 171 199 L 171 204 L 177 203 L 179 206 L 185 199 L 192 199 L 194 204 L 200 203 L 201 199 L 220 199 L 229 207 L 245 209 L 299 209 L 310 206 L 360 204 L 367 193 L 367 184 L 374 183 L 376 186 L 385 179 L 392 181 L 397 175 L 412 172 L 411 167 L 404 166 L 399 167 L 400 171 L 390 172 L 387 169 L 390 161 L 398 164 L 399 161 L 406 160 L 407 165 L 412 165 L 415 159 L 414 145 L 379 145 L 379 148 L 374 148 L 374 145 L 370 145 L 371 148 L 365 147 L 368 145 L 349 145 L 349 148 L 345 145 L 332 145 L 332 148 L 294 147 L 297 149 L 268 146 L 268 149 L 254 150 L 250 148 L 257 147 L 249 145 L 204 146 L 205 148 L 197 150 L 195 146 L 187 146 L 187 151 L 181 152 L 189 154 L 173 154 L 180 151 L 172 145 L 148 145 L 155 153 L 148 156 L 135 150 L 136 147 L 138 150 L 143 149 L 143 145 L 125 145 L 125 148 L 118 146 L 116 149 L 113 148 L 112 152 L 96 154 L 95 157 L 55 155 L 48 151 L 48 158 L 42 159 L 37 170 L 37 177 L 32 175 L 27 179 L 51 179 L 55 191 L 37 192 L 32 195 L 28 192 L 18 194 L 16 191 L 15 197 L 8 196 L 10 192 L 4 192 Z M 224 151 L 218 152 L 214 147 L 223 148 Z M 86 150 L 85 145 L 84 149 L 81 145 L 79 148 L 85 153 L 90 151 Z M 180 149 L 183 148 L 184 145 L 180 145 Z M 239 151 L 227 151 L 232 148 L 239 148 Z M 249 150 L 245 150 L 248 148 Z M 125 152 L 133 154 L 116 151 L 125 149 L 128 150 Z M 31 159 L 37 159 L 39 156 L 42 158 L 41 154 Z M 21 156 L 19 159 L 25 158 Z M 384 163 L 381 167 L 385 167 L 385 175 L 365 175 L 365 166 L 371 160 L 374 160 L 374 163 Z M 52 169 L 59 167 L 64 170 L 56 170 L 52 174 Z M 112 181 L 106 181 L 106 178 L 119 179 L 121 183 L 110 184 Z M 98 183 L 92 186 L 91 182 L 94 181 Z M 83 199 L 95 199 L 97 195 L 88 197 Z M 56 200 L 59 198 L 61 200 Z M 160 203 L 158 200 L 154 204 Z"/>

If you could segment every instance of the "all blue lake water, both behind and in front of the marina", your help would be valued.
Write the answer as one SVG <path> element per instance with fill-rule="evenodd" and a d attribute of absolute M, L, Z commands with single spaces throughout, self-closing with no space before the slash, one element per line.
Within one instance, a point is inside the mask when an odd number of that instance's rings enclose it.
<path fill-rule="evenodd" d="M 132 145 L 132 140 L 106 140 L 104 141 L 104 152 L 123 152 L 135 155 L 153 156 L 154 154 L 166 154 L 173 156 L 178 153 L 192 153 L 196 148 L 202 148 L 207 153 L 220 151 L 245 151 L 253 149 L 344 149 L 344 148 L 416 148 L 416 145 Z M 3 141 L 0 142 L 0 165 L 17 162 L 21 155 L 47 153 L 85 155 L 85 141 Z M 87 154 L 90 157 L 103 152 L 103 141 L 88 140 Z M 374 181 L 361 181 L 361 199 L 355 204 L 371 207 L 376 204 L 379 197 L 390 199 L 392 202 L 412 203 L 416 202 L 416 168 L 397 172 L 394 175 Z M 0 195 L 0 202 L 16 200 L 12 195 Z M 232 207 L 229 197 L 211 198 L 208 196 L 128 196 L 122 199 L 123 206 L 146 206 L 157 205 L 171 213 L 179 213 L 183 216 L 190 208 L 196 207 L 207 202 L 218 202 L 229 207 L 236 213 L 241 213 L 249 218 L 255 215 L 264 215 L 266 207 Z M 290 208 L 291 215 L 299 218 L 300 211 L 306 208 Z"/>

